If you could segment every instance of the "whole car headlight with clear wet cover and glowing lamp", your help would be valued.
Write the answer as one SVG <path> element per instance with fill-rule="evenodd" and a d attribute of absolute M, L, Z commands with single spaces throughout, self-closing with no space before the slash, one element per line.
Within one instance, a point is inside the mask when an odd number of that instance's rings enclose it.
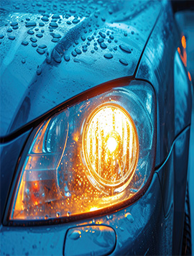
<path fill-rule="evenodd" d="M 62 109 L 34 129 L 9 220 L 71 220 L 142 193 L 154 164 L 155 106 L 151 86 L 139 83 Z"/>

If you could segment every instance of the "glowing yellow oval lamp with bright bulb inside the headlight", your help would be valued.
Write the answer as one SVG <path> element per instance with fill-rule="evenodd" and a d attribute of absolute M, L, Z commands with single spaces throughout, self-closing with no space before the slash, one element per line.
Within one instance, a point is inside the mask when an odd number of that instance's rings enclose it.
<path fill-rule="evenodd" d="M 139 141 L 128 112 L 119 105 L 104 104 L 89 117 L 83 138 L 83 152 L 95 186 L 97 182 L 118 187 L 129 181 L 137 166 Z"/>

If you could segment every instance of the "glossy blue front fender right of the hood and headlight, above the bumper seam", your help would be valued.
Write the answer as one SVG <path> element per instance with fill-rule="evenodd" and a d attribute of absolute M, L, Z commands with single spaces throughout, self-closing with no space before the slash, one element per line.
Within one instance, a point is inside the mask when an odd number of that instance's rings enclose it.
<path fill-rule="evenodd" d="M 187 71 L 177 47 L 181 35 L 172 13 L 170 1 L 163 12 L 139 63 L 136 78 L 152 83 L 157 97 L 157 158 L 160 165 L 170 152 L 172 142 L 186 126 L 190 125 L 191 88 Z M 157 58 L 156 58 L 157 56 Z"/>

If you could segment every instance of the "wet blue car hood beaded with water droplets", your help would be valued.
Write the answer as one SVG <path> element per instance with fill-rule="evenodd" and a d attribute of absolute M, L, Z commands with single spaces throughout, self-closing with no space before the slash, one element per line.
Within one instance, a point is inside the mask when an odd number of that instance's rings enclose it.
<path fill-rule="evenodd" d="M 160 1 L 1 1 L 1 137 L 133 76 Z"/>

